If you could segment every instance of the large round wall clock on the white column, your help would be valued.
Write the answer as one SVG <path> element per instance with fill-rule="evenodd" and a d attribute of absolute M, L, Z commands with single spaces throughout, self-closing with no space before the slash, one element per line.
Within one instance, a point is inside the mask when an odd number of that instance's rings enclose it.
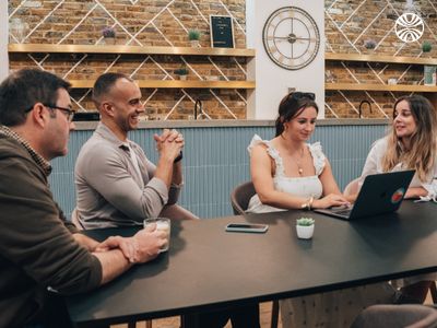
<path fill-rule="evenodd" d="M 306 67 L 316 58 L 320 46 L 315 20 L 297 7 L 274 11 L 265 22 L 262 40 L 270 59 L 287 70 Z"/>

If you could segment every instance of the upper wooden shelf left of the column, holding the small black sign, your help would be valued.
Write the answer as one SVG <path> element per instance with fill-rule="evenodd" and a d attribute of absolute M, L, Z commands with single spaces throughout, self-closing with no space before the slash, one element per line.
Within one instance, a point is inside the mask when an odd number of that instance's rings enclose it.
<path fill-rule="evenodd" d="M 93 46 L 93 45 L 39 45 L 10 44 L 10 54 L 134 54 L 134 55 L 189 55 L 189 56 L 231 56 L 255 57 L 255 49 L 236 48 L 190 48 L 190 47 L 140 47 L 140 46 Z"/>

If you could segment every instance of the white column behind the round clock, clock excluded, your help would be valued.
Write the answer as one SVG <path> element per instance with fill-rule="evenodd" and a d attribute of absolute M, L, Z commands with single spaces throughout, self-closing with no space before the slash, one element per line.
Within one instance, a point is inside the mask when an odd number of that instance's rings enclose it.
<path fill-rule="evenodd" d="M 262 28 L 269 15 L 287 5 L 302 8 L 310 13 L 320 33 L 320 48 L 317 57 L 310 65 L 296 71 L 276 66 L 267 55 L 262 44 Z M 316 93 L 319 117 L 324 117 L 324 1 L 247 0 L 246 24 L 248 47 L 253 47 L 257 51 L 256 65 L 248 67 L 250 77 L 256 77 L 257 82 L 255 96 L 248 99 L 248 118 L 276 118 L 277 106 L 290 87 Z"/>

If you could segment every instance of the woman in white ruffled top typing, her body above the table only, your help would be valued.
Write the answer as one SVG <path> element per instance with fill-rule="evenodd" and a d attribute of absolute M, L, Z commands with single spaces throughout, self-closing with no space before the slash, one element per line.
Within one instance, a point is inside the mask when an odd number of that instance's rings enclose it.
<path fill-rule="evenodd" d="M 320 143 L 307 143 L 316 128 L 318 110 L 312 93 L 290 93 L 279 106 L 275 138 L 253 137 L 248 150 L 257 195 L 250 199 L 247 212 L 347 203 Z"/>

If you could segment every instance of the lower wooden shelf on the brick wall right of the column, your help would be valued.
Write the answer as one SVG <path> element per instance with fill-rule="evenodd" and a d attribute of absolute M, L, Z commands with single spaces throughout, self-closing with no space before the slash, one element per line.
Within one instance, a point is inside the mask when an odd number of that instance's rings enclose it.
<path fill-rule="evenodd" d="M 324 90 L 355 90 L 355 91 L 401 91 L 401 92 L 437 92 L 437 86 L 405 85 L 405 84 L 352 84 L 324 83 Z"/>

